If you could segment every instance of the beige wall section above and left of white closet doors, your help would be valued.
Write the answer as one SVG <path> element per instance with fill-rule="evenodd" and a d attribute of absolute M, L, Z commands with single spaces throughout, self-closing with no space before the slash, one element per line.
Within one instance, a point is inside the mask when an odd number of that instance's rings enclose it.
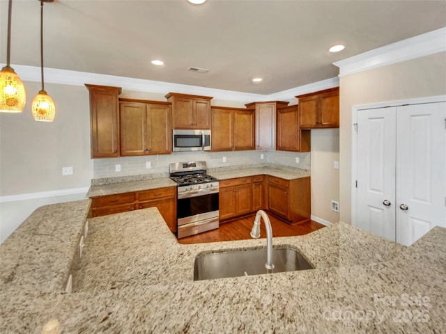
<path fill-rule="evenodd" d="M 446 52 L 374 68 L 340 78 L 340 205 L 341 221 L 351 223 L 352 108 L 446 94 Z"/>

